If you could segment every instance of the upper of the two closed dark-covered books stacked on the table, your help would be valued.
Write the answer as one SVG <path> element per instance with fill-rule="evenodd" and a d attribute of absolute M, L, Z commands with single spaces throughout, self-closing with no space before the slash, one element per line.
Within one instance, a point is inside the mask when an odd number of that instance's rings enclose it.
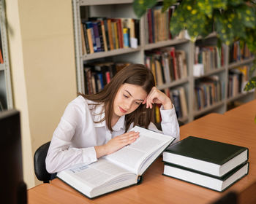
<path fill-rule="evenodd" d="M 189 136 L 163 152 L 163 162 L 222 177 L 249 157 L 243 146 Z"/>

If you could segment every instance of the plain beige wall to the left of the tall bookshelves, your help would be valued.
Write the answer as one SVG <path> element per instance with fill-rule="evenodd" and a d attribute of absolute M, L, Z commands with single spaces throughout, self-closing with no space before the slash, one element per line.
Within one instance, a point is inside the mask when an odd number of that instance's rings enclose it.
<path fill-rule="evenodd" d="M 21 111 L 23 175 L 34 177 L 36 149 L 50 141 L 76 96 L 71 0 L 6 2 L 14 106 Z"/>

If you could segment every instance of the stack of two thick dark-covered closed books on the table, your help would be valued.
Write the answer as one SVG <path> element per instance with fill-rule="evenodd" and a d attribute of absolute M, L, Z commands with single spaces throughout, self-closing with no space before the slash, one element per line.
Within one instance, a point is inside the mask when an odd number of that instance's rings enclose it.
<path fill-rule="evenodd" d="M 163 152 L 163 175 L 222 192 L 249 170 L 249 149 L 189 136 Z"/>

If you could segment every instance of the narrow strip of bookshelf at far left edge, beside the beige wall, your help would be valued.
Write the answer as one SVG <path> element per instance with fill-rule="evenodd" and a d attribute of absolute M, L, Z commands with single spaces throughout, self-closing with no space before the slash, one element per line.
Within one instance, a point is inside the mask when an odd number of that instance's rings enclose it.
<path fill-rule="evenodd" d="M 0 1 L 0 49 L 3 61 L 0 63 L 0 111 L 12 109 L 12 88 L 8 58 L 7 31 L 4 11 L 4 0 Z"/>

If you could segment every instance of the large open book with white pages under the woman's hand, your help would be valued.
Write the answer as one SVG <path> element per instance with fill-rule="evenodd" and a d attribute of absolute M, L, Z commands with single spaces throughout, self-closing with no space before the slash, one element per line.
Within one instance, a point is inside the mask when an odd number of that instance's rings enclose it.
<path fill-rule="evenodd" d="M 138 126 L 132 130 L 140 132 L 134 143 L 90 165 L 63 170 L 57 177 L 89 198 L 138 184 L 148 166 L 175 138 Z"/>

